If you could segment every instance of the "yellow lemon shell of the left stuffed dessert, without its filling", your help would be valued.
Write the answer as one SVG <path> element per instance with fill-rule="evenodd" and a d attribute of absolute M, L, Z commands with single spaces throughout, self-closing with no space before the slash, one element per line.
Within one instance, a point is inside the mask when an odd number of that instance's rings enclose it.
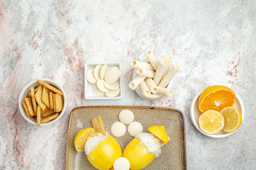
<path fill-rule="evenodd" d="M 122 150 L 119 143 L 111 136 L 103 139 L 87 155 L 89 162 L 99 170 L 109 170 L 114 161 L 122 156 Z"/>

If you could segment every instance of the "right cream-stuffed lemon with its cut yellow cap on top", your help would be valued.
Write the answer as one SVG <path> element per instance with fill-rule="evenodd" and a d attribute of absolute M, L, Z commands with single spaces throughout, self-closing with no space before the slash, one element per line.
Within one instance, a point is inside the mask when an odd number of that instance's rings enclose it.
<path fill-rule="evenodd" d="M 141 170 L 161 153 L 161 148 L 170 141 L 164 126 L 149 126 L 150 133 L 141 132 L 124 148 L 123 157 L 130 162 L 131 170 Z"/>

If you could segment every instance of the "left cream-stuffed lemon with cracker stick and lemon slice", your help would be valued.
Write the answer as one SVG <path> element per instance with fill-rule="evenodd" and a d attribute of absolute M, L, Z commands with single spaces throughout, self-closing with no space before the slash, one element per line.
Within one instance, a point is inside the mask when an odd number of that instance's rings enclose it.
<path fill-rule="evenodd" d="M 85 151 L 88 161 L 99 170 L 109 170 L 115 160 L 122 156 L 118 142 L 106 133 L 101 117 L 92 119 L 93 128 L 81 130 L 75 137 L 75 148 Z"/>

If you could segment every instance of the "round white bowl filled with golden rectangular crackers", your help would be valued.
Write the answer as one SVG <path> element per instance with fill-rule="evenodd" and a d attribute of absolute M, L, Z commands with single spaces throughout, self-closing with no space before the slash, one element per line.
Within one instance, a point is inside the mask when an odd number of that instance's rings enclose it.
<path fill-rule="evenodd" d="M 25 86 L 19 97 L 22 116 L 31 124 L 46 126 L 63 116 L 67 98 L 63 88 L 51 79 L 38 79 Z"/>

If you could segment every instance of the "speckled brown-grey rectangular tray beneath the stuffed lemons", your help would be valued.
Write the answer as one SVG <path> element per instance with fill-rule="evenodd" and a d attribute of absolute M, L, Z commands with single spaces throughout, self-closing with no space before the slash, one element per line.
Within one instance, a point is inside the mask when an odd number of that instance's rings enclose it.
<path fill-rule="evenodd" d="M 92 127 L 91 120 L 101 116 L 106 132 L 115 121 L 119 121 L 118 114 L 121 110 L 131 110 L 135 115 L 134 121 L 139 121 L 144 130 L 148 132 L 148 126 L 164 125 L 171 141 L 162 147 L 159 157 L 155 158 L 145 170 L 186 170 L 186 144 L 184 117 L 180 110 L 172 108 L 146 107 L 146 106 L 81 106 L 74 108 L 70 113 L 67 148 L 66 170 L 96 170 L 88 161 L 85 152 L 77 152 L 74 147 L 76 134 L 88 127 Z M 127 129 L 128 125 L 126 125 Z M 124 150 L 133 139 L 128 132 L 123 137 L 114 137 Z"/>

